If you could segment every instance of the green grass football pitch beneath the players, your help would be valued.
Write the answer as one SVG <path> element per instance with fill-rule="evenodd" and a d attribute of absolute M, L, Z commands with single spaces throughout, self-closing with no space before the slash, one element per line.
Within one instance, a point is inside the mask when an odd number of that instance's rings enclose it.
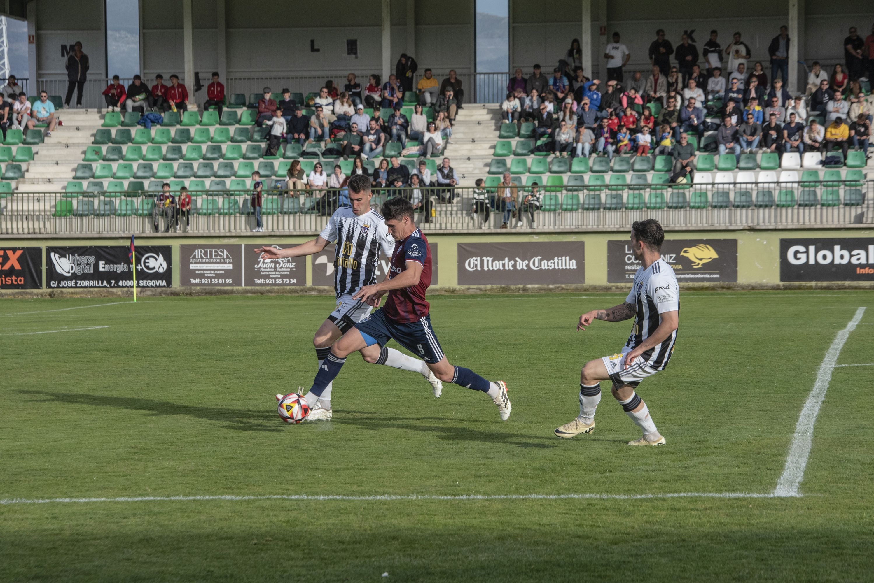
<path fill-rule="evenodd" d="M 860 306 L 837 362 L 874 362 L 871 292 L 687 292 L 668 369 L 638 389 L 667 445 L 628 448 L 608 391 L 593 434 L 559 440 L 580 367 L 630 327 L 578 333 L 579 314 L 623 297 L 431 298 L 449 360 L 507 381 L 509 422 L 353 354 L 334 421 L 297 426 L 274 394 L 309 387 L 332 298 L 4 300 L 0 580 L 871 580 L 874 367 L 835 368 L 802 497 L 434 498 L 767 494 Z M 9 503 L 270 495 L 432 498 Z"/>

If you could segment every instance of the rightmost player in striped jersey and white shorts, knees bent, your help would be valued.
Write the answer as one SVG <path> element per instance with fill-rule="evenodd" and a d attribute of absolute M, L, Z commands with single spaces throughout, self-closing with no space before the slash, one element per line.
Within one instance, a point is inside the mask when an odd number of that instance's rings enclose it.
<path fill-rule="evenodd" d="M 635 393 L 640 382 L 668 366 L 676 343 L 680 318 L 680 288 L 671 266 L 662 260 L 662 225 L 655 219 L 635 221 L 631 226 L 631 248 L 641 268 L 625 303 L 608 310 L 593 310 L 579 317 L 577 330 L 586 330 L 593 320 L 620 322 L 635 319 L 628 342 L 621 353 L 589 360 L 579 379 L 579 416 L 555 430 L 564 438 L 591 433 L 595 408 L 600 401 L 600 381 L 613 382 L 613 396 L 643 436 L 628 445 L 664 445 L 655 429 L 647 404 Z"/>

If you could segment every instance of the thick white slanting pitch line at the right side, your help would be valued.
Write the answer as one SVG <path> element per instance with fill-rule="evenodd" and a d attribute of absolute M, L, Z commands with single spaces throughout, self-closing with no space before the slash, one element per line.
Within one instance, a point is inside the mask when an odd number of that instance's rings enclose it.
<path fill-rule="evenodd" d="M 829 352 L 825 353 L 825 358 L 822 359 L 822 364 L 816 373 L 814 388 L 810 391 L 808 400 L 804 402 L 804 408 L 801 409 L 801 415 L 798 417 L 798 424 L 795 425 L 795 435 L 789 445 L 786 466 L 783 468 L 783 474 L 777 482 L 777 487 L 773 490 L 774 496 L 800 496 L 798 487 L 801 485 L 801 480 L 804 479 L 804 470 L 808 465 L 810 446 L 814 439 L 816 415 L 819 414 L 822 401 L 825 399 L 825 392 L 829 389 L 831 373 L 837 366 L 837 357 L 850 337 L 850 333 L 856 330 L 864 313 L 864 307 L 857 309 L 856 315 L 853 316 L 846 328 L 837 333 L 835 340 L 829 346 Z"/>

